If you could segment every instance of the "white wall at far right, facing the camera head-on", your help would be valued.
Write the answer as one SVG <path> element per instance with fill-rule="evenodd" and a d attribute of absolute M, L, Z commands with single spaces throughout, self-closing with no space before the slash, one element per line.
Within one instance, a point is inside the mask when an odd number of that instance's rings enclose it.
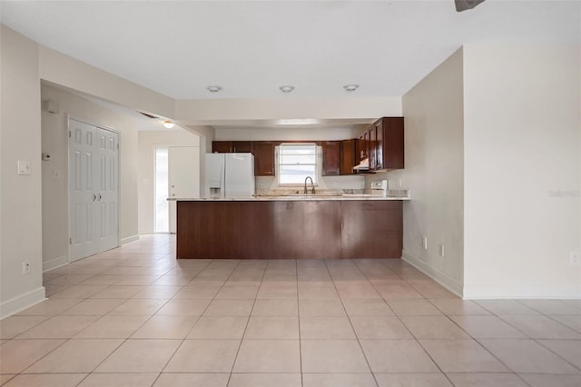
<path fill-rule="evenodd" d="M 466 297 L 581 298 L 579 45 L 467 45 Z"/>

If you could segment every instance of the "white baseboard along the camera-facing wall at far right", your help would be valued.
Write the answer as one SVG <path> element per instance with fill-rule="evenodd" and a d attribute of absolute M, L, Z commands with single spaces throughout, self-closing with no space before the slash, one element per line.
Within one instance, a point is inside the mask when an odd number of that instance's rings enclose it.
<path fill-rule="evenodd" d="M 541 286 L 464 286 L 464 298 L 469 300 L 490 299 L 581 299 L 581 289 Z"/>

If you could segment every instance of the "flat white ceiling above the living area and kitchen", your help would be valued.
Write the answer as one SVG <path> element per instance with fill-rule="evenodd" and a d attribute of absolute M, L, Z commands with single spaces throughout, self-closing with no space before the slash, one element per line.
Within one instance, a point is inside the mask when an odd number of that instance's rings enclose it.
<path fill-rule="evenodd" d="M 579 43 L 579 1 L 5 1 L 2 23 L 175 99 L 399 96 L 460 45 Z M 206 86 L 219 84 L 211 94 Z"/>

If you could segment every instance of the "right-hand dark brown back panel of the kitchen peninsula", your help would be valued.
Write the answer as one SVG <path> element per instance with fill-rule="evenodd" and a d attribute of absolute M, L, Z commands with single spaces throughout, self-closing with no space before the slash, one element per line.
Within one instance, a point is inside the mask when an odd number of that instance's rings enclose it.
<path fill-rule="evenodd" d="M 401 258 L 401 201 L 341 202 L 342 258 Z"/>

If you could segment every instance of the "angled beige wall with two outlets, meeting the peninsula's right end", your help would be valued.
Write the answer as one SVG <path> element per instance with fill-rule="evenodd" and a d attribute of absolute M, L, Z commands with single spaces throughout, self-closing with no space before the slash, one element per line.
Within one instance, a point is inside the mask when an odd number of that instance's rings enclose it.
<path fill-rule="evenodd" d="M 405 169 L 368 177 L 368 184 L 389 179 L 389 189 L 399 189 L 401 178 L 401 189 L 411 190 L 403 206 L 403 258 L 458 294 L 464 261 L 462 66 L 459 49 L 403 96 Z"/>

